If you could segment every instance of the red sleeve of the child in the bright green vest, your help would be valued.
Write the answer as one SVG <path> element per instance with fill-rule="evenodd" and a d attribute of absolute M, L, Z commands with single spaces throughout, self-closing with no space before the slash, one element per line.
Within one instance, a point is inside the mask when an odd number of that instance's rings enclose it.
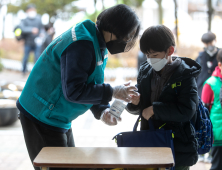
<path fill-rule="evenodd" d="M 204 102 L 205 107 L 210 111 L 214 101 L 214 92 L 209 84 L 204 85 L 201 99 Z"/>

